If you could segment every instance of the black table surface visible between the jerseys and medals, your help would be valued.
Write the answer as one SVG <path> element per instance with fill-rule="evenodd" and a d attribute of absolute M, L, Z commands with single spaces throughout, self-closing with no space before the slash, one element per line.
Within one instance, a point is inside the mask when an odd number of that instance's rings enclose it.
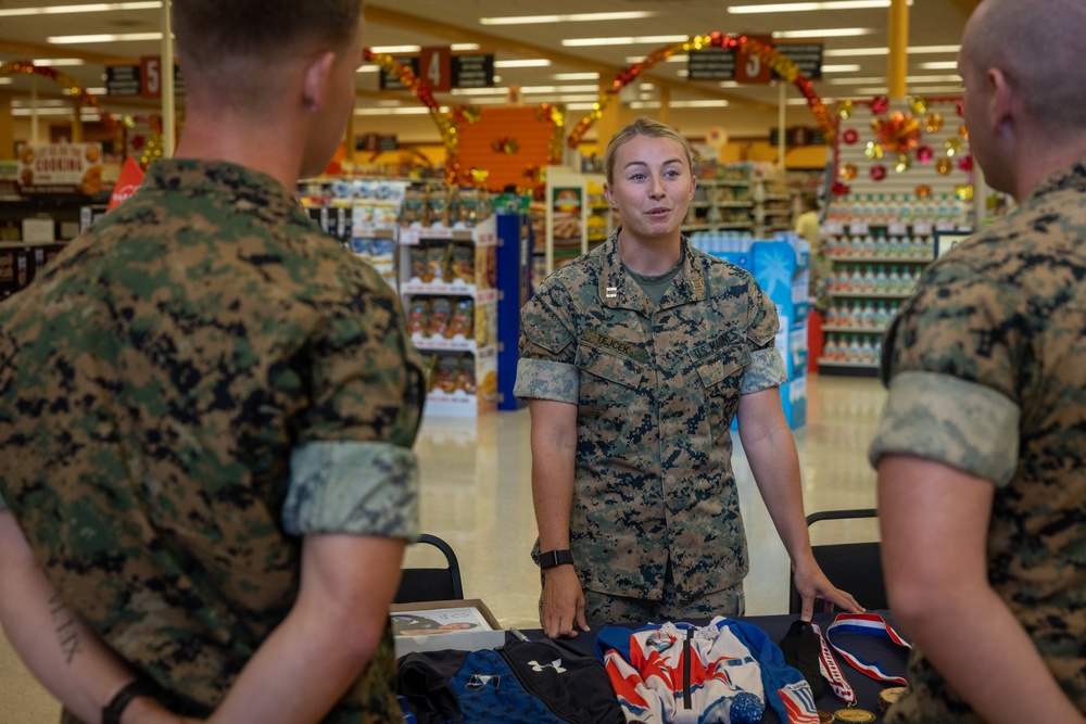
<path fill-rule="evenodd" d="M 871 612 L 882 615 L 884 619 L 886 619 L 887 622 L 891 623 L 891 625 L 894 625 L 893 617 L 889 614 L 889 612 L 887 611 L 871 611 Z M 824 634 L 825 630 L 829 627 L 831 623 L 833 623 L 833 619 L 836 615 L 837 615 L 836 613 L 816 613 L 813 622 L 819 625 L 819 628 L 821 628 L 822 633 Z M 795 621 L 797 618 L 798 617 L 788 614 L 750 615 L 750 617 L 742 617 L 738 620 L 745 623 L 753 623 L 754 625 L 758 626 L 759 628 L 766 632 L 766 635 L 768 635 L 773 643 L 780 645 L 781 639 L 784 638 L 784 635 L 788 633 L 788 627 L 792 625 L 792 622 Z M 692 620 L 691 623 L 695 625 L 705 625 L 708 623 L 708 620 Z M 611 624 L 611 625 L 621 625 L 629 628 L 640 628 L 645 624 L 630 623 L 630 624 Z M 529 638 L 531 638 L 532 640 L 536 640 L 543 637 L 543 631 L 541 628 L 528 630 L 525 631 L 523 634 Z M 577 638 L 560 639 L 558 643 L 561 646 L 569 648 L 570 650 L 576 651 L 578 653 L 595 656 L 595 643 L 596 643 L 595 630 L 590 631 L 588 633 L 582 632 L 577 636 Z M 908 663 L 908 651 L 902 647 L 897 646 L 896 644 L 889 642 L 886 638 L 877 636 L 850 636 L 848 645 L 849 645 L 849 650 L 856 656 L 860 657 L 861 659 L 869 661 L 870 660 L 877 661 L 886 669 L 887 672 L 894 675 L 905 676 L 906 666 Z M 897 685 L 892 683 L 877 682 L 873 678 L 870 678 L 869 676 L 861 674 L 859 671 L 857 671 L 848 663 L 846 663 L 845 660 L 842 659 L 841 655 L 838 655 L 836 651 L 834 651 L 833 655 L 836 658 L 837 665 L 841 669 L 842 673 L 845 675 L 845 678 L 848 679 L 848 683 L 851 684 L 853 689 L 855 689 L 856 691 L 856 697 L 857 697 L 856 706 L 861 709 L 867 709 L 868 711 L 873 712 L 877 716 L 876 721 L 882 722 L 883 717 L 879 714 L 879 694 L 887 687 Z M 837 709 L 844 708 L 845 706 L 844 702 L 842 702 L 833 695 L 833 691 L 830 689 L 830 687 L 826 687 L 825 694 L 822 695 L 822 697 L 820 697 L 816 703 L 818 704 L 819 709 L 829 712 L 834 712 Z M 781 721 L 776 716 L 776 713 L 769 708 L 766 709 L 766 714 L 762 716 L 761 721 L 762 724 L 781 724 Z"/>

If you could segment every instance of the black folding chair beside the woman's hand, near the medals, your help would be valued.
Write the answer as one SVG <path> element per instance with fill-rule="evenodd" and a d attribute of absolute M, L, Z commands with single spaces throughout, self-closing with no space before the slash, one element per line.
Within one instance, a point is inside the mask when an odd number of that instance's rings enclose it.
<path fill-rule="evenodd" d="M 849 520 L 857 518 L 877 518 L 874 508 L 857 510 L 824 510 L 807 516 L 807 526 L 823 520 Z M 853 598 L 866 609 L 885 610 L 886 584 L 883 582 L 882 558 L 880 544 L 871 543 L 835 543 L 831 545 L 811 546 L 815 560 L 818 562 L 830 583 L 842 590 L 847 590 Z M 788 575 L 788 613 L 798 615 L 803 609 L 803 600 L 796 590 L 795 575 Z"/>

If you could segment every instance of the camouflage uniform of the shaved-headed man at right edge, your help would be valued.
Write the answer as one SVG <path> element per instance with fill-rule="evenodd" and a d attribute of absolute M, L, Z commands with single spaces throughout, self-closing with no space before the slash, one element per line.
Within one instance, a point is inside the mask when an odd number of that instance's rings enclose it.
<path fill-rule="evenodd" d="M 1086 712 L 1084 280 L 1079 164 L 925 275 L 886 336 L 871 458 L 913 454 L 993 481 L 988 580 Z M 923 651 L 909 672 L 888 722 L 981 721 Z"/>

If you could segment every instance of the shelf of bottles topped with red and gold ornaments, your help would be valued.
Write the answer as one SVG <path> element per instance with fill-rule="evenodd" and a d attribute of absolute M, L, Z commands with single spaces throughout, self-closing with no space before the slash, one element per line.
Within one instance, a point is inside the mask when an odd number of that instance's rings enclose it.
<path fill-rule="evenodd" d="M 835 195 L 819 233 L 818 366 L 873 376 L 883 334 L 934 261 L 937 233 L 974 227 L 973 166 L 954 100 L 848 102 L 838 115 Z"/>

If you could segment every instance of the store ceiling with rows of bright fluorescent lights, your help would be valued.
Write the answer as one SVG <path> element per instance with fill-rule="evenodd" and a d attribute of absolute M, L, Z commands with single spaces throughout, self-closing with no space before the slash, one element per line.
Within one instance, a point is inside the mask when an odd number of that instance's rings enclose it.
<path fill-rule="evenodd" d="M 155 40 L 83 41 L 54 45 L 50 38 L 97 34 L 153 34 L 161 30 L 162 10 L 153 2 L 146 9 L 110 10 L 106 12 L 17 15 L 23 8 L 81 5 L 86 0 L 0 0 L 0 61 L 33 58 L 81 59 L 83 65 L 63 65 L 56 69 L 76 78 L 92 89 L 102 89 L 103 64 L 112 60 L 134 61 L 141 55 L 157 55 L 161 45 Z M 227 0 L 224 0 L 227 1 Z M 921 96 L 954 96 L 960 82 L 954 69 L 956 49 L 968 13 L 978 0 L 913 0 L 909 12 L 908 92 Z M 742 0 L 746 5 L 772 5 L 778 0 Z M 116 5 L 117 3 L 106 3 Z M 526 102 L 563 101 L 570 115 L 580 117 L 597 96 L 599 84 L 609 84 L 636 60 L 662 47 L 674 45 L 661 40 L 668 36 L 707 35 L 712 31 L 770 36 L 780 31 L 824 30 L 805 42 L 822 42 L 825 48 L 824 74 L 815 82 L 816 91 L 830 101 L 844 98 L 870 98 L 885 92 L 885 51 L 889 11 L 886 8 L 855 10 L 820 10 L 815 12 L 729 12 L 741 3 L 719 0 L 367 0 L 366 41 L 378 49 L 390 46 L 449 46 L 473 43 L 483 51 L 494 52 L 500 66 L 498 89 L 488 94 L 442 94 L 442 103 L 490 104 L 504 102 L 509 86 L 523 89 Z M 818 4 L 818 3 L 816 3 Z M 480 18 L 539 15 L 565 15 L 588 12 L 643 11 L 639 20 L 595 22 L 559 22 L 543 24 L 494 25 Z M 860 28 L 860 35 L 833 37 L 841 28 Z M 628 37 L 633 41 L 621 45 L 563 45 L 569 39 Z M 647 38 L 641 41 L 641 38 Z M 871 49 L 869 54 L 854 55 L 849 51 Z M 934 49 L 934 50 L 933 50 Z M 513 61 L 546 61 L 536 67 L 509 67 Z M 931 66 L 931 64 L 935 64 Z M 742 127 L 738 119 L 757 117 L 765 128 L 767 118 L 775 120 L 780 91 L 771 86 L 735 86 L 717 81 L 687 81 L 683 77 L 684 62 L 661 63 L 632 86 L 622 102 L 645 107 L 653 113 L 661 91 L 670 96 L 672 117 L 691 109 L 690 113 L 719 113 L 729 124 Z M 418 112 L 419 102 L 406 91 L 379 91 L 375 68 L 358 73 L 357 86 L 361 113 L 394 113 L 403 107 Z M 598 78 L 583 74 L 598 74 Z M 574 76 L 563 74 L 578 74 Z M 557 78 L 556 78 L 557 76 Z M 567 79 L 573 78 L 573 79 Z M 0 78 L 0 84 L 3 79 Z M 0 85 L 0 91 L 11 91 L 25 102 L 30 81 L 13 78 Z M 104 91 L 104 89 L 103 89 Z M 52 84 L 38 84 L 39 98 L 59 98 Z M 788 88 L 788 123 L 805 113 L 799 92 Z M 728 110 L 722 111 L 724 102 Z M 644 105 L 641 105 L 644 104 Z M 114 112 L 146 109 L 149 102 L 103 98 L 102 105 Z M 697 107 L 697 106 L 708 107 Z M 694 106 L 694 107 L 692 107 Z M 696 107 L 696 111 L 694 110 Z M 809 116 L 808 116 L 809 119 Z M 813 125 L 813 124 L 808 124 Z"/>

